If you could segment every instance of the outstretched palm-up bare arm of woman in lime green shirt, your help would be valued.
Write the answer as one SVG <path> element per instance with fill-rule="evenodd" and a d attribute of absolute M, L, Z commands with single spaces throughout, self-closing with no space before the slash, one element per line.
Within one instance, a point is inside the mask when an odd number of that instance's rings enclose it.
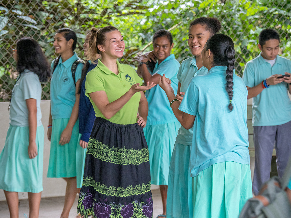
<path fill-rule="evenodd" d="M 97 106 L 97 108 L 101 111 L 102 115 L 107 119 L 110 119 L 115 115 L 125 104 L 129 101 L 129 99 L 136 93 L 142 92 L 145 90 L 149 90 L 156 84 L 149 84 L 147 83 L 146 86 L 139 86 L 139 83 L 136 83 L 131 86 L 131 88 L 119 99 L 109 103 L 107 94 L 105 91 L 97 91 L 89 93 L 91 99 Z"/>

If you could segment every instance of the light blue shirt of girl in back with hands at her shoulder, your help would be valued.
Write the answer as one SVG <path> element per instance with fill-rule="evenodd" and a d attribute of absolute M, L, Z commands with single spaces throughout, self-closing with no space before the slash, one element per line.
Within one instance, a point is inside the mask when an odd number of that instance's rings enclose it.
<path fill-rule="evenodd" d="M 174 54 L 168 56 L 161 64 L 156 63 L 151 75 L 159 74 L 171 79 L 171 86 L 175 93 L 178 90 L 178 79 L 177 74 L 179 70 L 180 63 L 175 59 Z M 158 125 L 165 123 L 177 122 L 173 110 L 170 108 L 170 103 L 166 92 L 157 84 L 150 90 L 145 92 L 145 97 L 148 100 L 148 119 L 147 125 Z"/>

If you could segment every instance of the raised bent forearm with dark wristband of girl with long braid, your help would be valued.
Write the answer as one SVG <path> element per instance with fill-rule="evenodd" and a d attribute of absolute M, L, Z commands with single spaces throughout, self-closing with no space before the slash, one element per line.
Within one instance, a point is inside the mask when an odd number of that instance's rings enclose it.
<path fill-rule="evenodd" d="M 168 78 L 164 76 L 162 76 L 159 80 L 159 86 L 162 87 L 162 89 L 166 92 L 167 97 L 169 102 L 173 101 L 174 99 L 176 99 L 176 96 L 174 94 L 174 91 L 171 87 L 171 80 L 169 80 Z M 196 116 L 187 114 L 183 111 L 180 111 L 178 108 L 180 106 L 180 101 L 174 101 L 172 103 L 172 110 L 175 114 L 175 117 L 178 119 L 178 121 L 180 122 L 180 124 L 185 128 L 185 129 L 190 129 L 193 124 L 194 124 L 194 120 Z"/>

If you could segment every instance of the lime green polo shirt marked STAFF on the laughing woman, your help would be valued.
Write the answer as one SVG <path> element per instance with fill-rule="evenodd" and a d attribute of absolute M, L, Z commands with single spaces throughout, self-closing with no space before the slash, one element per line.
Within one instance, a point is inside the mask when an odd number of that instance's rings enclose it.
<path fill-rule="evenodd" d="M 142 84 L 142 79 L 136 74 L 136 71 L 129 65 L 120 64 L 117 61 L 118 75 L 114 74 L 102 62 L 98 60 L 98 65 L 88 72 L 86 76 L 86 96 L 89 97 L 96 117 L 105 118 L 101 111 L 97 108 L 95 103 L 89 96 L 89 93 L 97 91 L 105 91 L 109 102 L 119 99 L 125 92 L 127 92 L 133 84 Z M 137 121 L 136 115 L 138 113 L 139 101 L 141 93 L 138 92 L 129 99 L 129 101 L 109 120 L 116 124 L 134 124 Z"/>

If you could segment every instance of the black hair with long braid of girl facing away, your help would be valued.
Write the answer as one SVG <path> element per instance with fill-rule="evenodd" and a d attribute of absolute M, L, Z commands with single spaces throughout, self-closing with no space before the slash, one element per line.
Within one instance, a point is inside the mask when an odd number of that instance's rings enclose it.
<path fill-rule="evenodd" d="M 227 66 L 226 69 L 226 91 L 230 103 L 228 109 L 233 110 L 231 101 L 233 99 L 233 70 L 235 69 L 235 49 L 233 40 L 224 34 L 214 34 L 211 36 L 206 44 L 205 50 L 213 54 L 213 66 Z"/>

